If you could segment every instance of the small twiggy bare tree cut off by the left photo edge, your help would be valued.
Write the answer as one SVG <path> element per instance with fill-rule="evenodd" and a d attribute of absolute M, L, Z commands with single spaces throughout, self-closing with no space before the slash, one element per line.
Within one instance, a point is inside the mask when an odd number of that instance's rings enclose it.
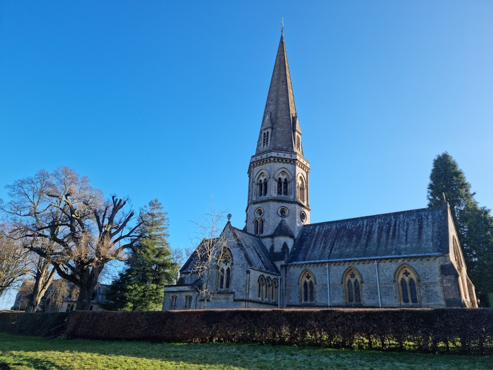
<path fill-rule="evenodd" d="M 8 235 L 9 226 L 0 224 L 0 296 L 14 289 L 29 272 L 29 250 Z"/>

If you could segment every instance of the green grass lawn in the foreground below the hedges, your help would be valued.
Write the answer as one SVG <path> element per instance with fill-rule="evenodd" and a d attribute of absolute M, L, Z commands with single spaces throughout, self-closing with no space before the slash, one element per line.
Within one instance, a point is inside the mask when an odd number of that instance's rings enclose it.
<path fill-rule="evenodd" d="M 8 369 L 493 369 L 493 357 L 382 353 L 258 344 L 42 339 L 0 333 Z"/>

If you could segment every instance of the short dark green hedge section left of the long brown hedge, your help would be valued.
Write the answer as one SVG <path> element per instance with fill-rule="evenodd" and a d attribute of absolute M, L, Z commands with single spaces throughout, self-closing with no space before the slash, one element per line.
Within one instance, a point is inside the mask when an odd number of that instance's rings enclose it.
<path fill-rule="evenodd" d="M 72 312 L 0 312 L 0 332 L 54 337 L 65 332 Z"/>

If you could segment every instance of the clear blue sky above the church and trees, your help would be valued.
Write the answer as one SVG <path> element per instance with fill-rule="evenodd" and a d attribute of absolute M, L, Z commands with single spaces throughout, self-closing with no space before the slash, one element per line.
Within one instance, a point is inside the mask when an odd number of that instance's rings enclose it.
<path fill-rule="evenodd" d="M 445 150 L 493 207 L 487 0 L 1 1 L 0 198 L 68 165 L 172 247 L 211 197 L 243 227 L 281 17 L 312 222 L 425 207 Z"/>

